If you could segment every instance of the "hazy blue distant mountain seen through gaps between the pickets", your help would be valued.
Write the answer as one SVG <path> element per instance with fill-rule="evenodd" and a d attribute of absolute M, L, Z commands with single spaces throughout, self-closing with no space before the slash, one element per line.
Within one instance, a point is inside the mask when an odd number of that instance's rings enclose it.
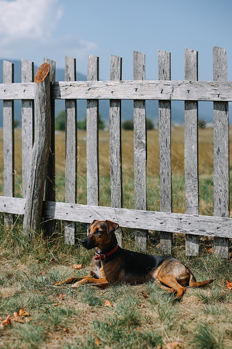
<path fill-rule="evenodd" d="M 14 82 L 21 82 L 21 61 L 10 60 L 14 63 Z M 34 67 L 34 73 L 36 73 L 38 67 Z M 55 80 L 64 81 L 64 69 L 56 69 Z M 77 73 L 77 81 L 86 81 L 86 75 Z M 0 83 L 3 82 L 3 60 L 0 60 Z M 3 108 L 2 101 L 0 101 L 0 128 L 3 127 Z M 213 121 L 213 103 L 212 102 L 199 102 L 199 119 L 205 119 L 207 122 Z M 55 115 L 61 110 L 64 110 L 64 100 L 55 101 Z M 109 124 L 109 101 L 99 101 L 99 113 L 105 120 L 106 124 Z M 21 121 L 21 101 L 14 101 L 14 117 Z M 77 100 L 77 119 L 81 120 L 86 117 L 86 100 Z M 146 117 L 151 119 L 153 123 L 157 124 L 159 120 L 158 101 L 146 101 Z M 133 119 L 133 101 L 122 101 L 122 119 Z M 172 123 L 184 122 L 184 102 L 173 101 L 172 102 Z"/>

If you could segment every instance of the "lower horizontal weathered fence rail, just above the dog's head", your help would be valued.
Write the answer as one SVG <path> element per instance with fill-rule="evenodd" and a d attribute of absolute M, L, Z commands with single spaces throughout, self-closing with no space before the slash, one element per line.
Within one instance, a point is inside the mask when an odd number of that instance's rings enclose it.
<path fill-rule="evenodd" d="M 0 212 L 23 215 L 25 199 L 0 196 Z M 111 208 L 68 204 L 66 202 L 44 202 L 44 215 L 49 219 L 81 221 L 91 223 L 93 219 L 109 219 L 125 228 L 141 228 L 159 231 L 201 234 L 206 237 L 232 237 L 231 218 L 162 213 L 128 208 Z"/>

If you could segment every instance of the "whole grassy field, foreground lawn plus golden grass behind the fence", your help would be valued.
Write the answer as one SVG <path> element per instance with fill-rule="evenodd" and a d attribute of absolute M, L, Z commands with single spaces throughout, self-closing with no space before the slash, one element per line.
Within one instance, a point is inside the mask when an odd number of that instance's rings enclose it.
<path fill-rule="evenodd" d="M 133 208 L 133 133 L 123 131 L 123 206 Z M 3 195 L 3 134 L 0 131 L 0 194 Z M 15 132 L 16 196 L 21 197 L 21 130 Z M 185 211 L 184 130 L 172 131 L 173 211 Z M 86 133 L 78 132 L 77 202 L 86 203 Z M 148 132 L 147 202 L 159 210 L 158 131 Z M 199 130 L 200 213 L 213 215 L 213 130 Z M 109 134 L 99 132 L 100 202 L 110 205 Z M 56 195 L 64 201 L 64 133 L 56 134 Z M 78 224 L 79 239 L 86 226 Z M 52 282 L 86 274 L 93 251 L 79 243 L 64 245 L 62 223 L 51 238 L 35 232 L 25 241 L 20 219 L 0 226 L 0 348 L 231 348 L 232 279 L 230 261 L 212 254 L 212 241 L 201 239 L 200 255 L 186 257 L 185 240 L 175 234 L 173 256 L 188 265 L 196 280 L 214 278 L 204 289 L 187 289 L 181 300 L 152 283 L 53 287 Z M 123 229 L 123 245 L 136 250 L 134 232 Z M 159 252 L 159 233 L 150 232 L 148 252 Z M 83 269 L 72 269 L 82 264 Z M 109 302 L 107 302 L 109 301 Z M 21 313 L 19 309 L 23 309 Z M 15 313 L 15 314 L 14 314 Z M 21 314 L 21 315 L 19 315 Z M 1 324 L 0 321 L 0 324 Z"/>

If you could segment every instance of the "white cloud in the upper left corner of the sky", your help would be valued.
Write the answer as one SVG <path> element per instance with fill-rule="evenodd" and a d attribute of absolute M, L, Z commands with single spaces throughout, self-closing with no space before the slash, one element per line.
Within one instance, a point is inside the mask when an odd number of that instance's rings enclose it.
<path fill-rule="evenodd" d="M 64 55 L 82 58 L 96 47 L 75 34 L 55 36 L 61 17 L 58 0 L 0 0 L 1 58 L 41 61 L 47 56 L 59 62 Z"/>

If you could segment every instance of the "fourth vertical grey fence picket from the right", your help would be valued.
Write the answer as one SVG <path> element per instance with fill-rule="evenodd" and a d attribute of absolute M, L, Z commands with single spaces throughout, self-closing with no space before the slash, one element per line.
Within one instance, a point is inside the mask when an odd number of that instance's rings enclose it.
<path fill-rule="evenodd" d="M 133 51 L 133 79 L 145 80 L 145 55 Z M 146 210 L 146 104 L 144 100 L 133 101 L 133 152 L 135 208 Z M 136 245 L 146 250 L 147 231 L 136 232 Z"/>

